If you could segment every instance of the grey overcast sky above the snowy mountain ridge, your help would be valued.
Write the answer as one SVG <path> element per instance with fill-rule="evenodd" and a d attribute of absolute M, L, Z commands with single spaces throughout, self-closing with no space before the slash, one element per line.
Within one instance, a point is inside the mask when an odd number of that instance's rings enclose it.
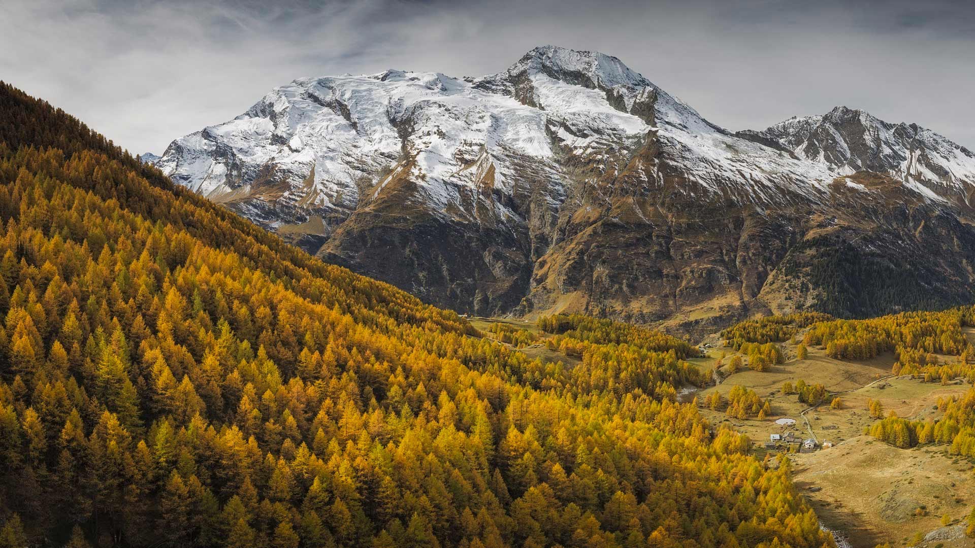
<path fill-rule="evenodd" d="M 975 148 L 975 2 L 3 0 L 0 79 L 134 153 L 302 76 L 596 50 L 730 130 L 843 104 Z"/>

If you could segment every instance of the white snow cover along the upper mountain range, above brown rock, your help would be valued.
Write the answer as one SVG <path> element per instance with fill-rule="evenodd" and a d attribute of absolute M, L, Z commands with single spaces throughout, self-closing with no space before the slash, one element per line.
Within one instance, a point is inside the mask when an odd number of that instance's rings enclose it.
<path fill-rule="evenodd" d="M 387 70 L 295 80 L 234 120 L 176 139 L 158 166 L 216 201 L 320 212 L 361 207 L 392 174 L 416 182 L 415 200 L 462 217 L 471 204 L 458 189 L 478 188 L 488 171 L 492 188 L 511 194 L 530 159 L 557 205 L 573 183 L 566 154 L 598 160 L 648 138 L 671 170 L 700 186 L 687 192 L 741 202 L 775 202 L 782 191 L 818 201 L 836 176 L 878 162 L 897 176 L 952 184 L 975 172 L 971 154 L 948 139 L 859 111 L 752 134 L 792 153 L 722 130 L 619 59 L 546 46 L 477 79 Z M 496 215 L 517 216 L 484 201 Z"/>

